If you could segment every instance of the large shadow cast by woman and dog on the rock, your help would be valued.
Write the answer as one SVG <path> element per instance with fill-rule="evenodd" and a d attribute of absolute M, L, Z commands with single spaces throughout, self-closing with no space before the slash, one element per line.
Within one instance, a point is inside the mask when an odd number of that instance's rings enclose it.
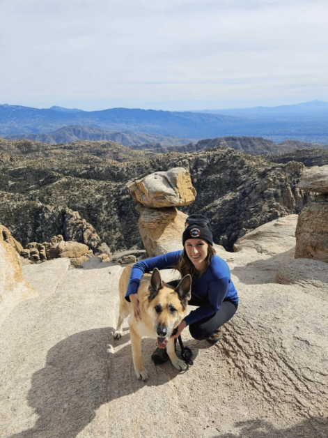
<path fill-rule="evenodd" d="M 27 396 L 38 420 L 33 428 L 10 438 L 75 438 L 104 403 L 145 385 L 165 384 L 178 374 L 169 362 L 155 369 L 150 359 L 155 341 L 143 339 L 143 358 L 150 378 L 146 382 L 137 380 L 130 335 L 115 341 L 118 351 L 114 354 L 110 345 L 113 333 L 112 328 L 84 331 L 49 350 L 45 368 L 34 373 Z"/>

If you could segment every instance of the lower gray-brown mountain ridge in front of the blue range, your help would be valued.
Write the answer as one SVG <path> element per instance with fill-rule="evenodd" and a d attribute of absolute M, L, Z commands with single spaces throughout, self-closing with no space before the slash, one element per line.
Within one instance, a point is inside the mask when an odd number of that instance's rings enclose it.
<path fill-rule="evenodd" d="M 54 133 L 7 135 L 5 138 L 26 138 L 33 140 L 34 142 L 48 144 L 72 143 L 78 142 L 79 140 L 109 140 L 111 142 L 123 144 L 124 146 L 132 146 L 143 143 L 160 143 L 165 146 L 169 146 L 172 144 L 186 144 L 192 141 L 192 139 L 183 139 L 180 137 L 171 137 L 159 134 L 134 133 L 132 131 L 109 131 L 93 128 L 93 126 L 64 126 L 63 128 L 54 131 Z"/>

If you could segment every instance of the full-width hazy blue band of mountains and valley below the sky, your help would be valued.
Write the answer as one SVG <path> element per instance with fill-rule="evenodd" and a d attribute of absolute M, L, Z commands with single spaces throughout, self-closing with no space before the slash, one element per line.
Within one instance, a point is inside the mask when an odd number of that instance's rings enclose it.
<path fill-rule="evenodd" d="M 65 126 L 84 126 L 116 133 L 129 131 L 186 140 L 247 136 L 265 137 L 274 142 L 296 139 L 328 144 L 328 103 L 320 100 L 280 107 L 208 111 L 211 114 L 206 111 L 170 112 L 127 108 L 87 112 L 77 108 L 51 107 L 39 110 L 19 105 L 0 105 L 0 135 L 46 134 Z M 95 134 L 102 135 L 99 132 Z M 41 139 L 43 142 L 52 141 L 47 137 Z M 124 139 L 124 135 L 121 139 L 111 139 L 124 144 L 134 142 Z M 146 142 L 154 141 L 162 142 L 159 139 L 146 139 Z"/>

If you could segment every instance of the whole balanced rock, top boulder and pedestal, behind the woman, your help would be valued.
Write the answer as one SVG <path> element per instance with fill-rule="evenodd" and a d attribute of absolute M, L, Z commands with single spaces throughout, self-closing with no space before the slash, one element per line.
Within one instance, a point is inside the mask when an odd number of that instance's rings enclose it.
<path fill-rule="evenodd" d="M 187 215 L 176 206 L 194 202 L 196 190 L 189 172 L 183 167 L 155 172 L 127 183 L 127 188 L 139 204 L 139 233 L 148 256 L 182 249 L 181 235 Z"/>

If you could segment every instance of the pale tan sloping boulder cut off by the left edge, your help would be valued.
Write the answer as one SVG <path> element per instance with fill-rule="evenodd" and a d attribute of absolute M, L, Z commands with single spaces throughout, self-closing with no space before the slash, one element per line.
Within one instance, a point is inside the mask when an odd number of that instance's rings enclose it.
<path fill-rule="evenodd" d="M 3 229 L 0 225 L 0 326 L 19 301 L 38 295 L 24 280 L 17 249 L 5 240 Z"/>

